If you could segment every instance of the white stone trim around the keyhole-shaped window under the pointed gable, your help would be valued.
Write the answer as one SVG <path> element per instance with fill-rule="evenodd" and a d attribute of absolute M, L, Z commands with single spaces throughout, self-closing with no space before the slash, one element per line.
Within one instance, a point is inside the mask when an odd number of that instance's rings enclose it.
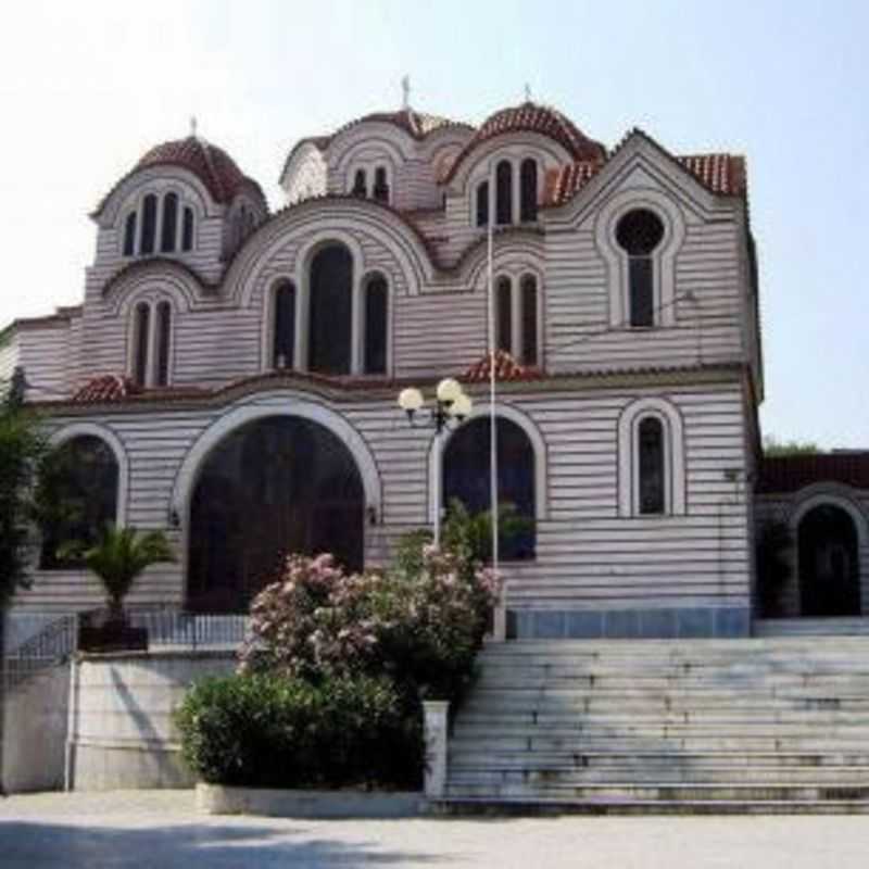
<path fill-rule="evenodd" d="M 594 224 L 594 241 L 607 265 L 609 325 L 614 329 L 631 328 L 628 256 L 616 241 L 616 227 L 628 212 L 635 209 L 647 209 L 664 225 L 664 238 L 652 252 L 655 326 L 675 326 L 676 256 L 684 241 L 685 221 L 672 199 L 652 188 L 616 193 L 601 209 Z"/>

